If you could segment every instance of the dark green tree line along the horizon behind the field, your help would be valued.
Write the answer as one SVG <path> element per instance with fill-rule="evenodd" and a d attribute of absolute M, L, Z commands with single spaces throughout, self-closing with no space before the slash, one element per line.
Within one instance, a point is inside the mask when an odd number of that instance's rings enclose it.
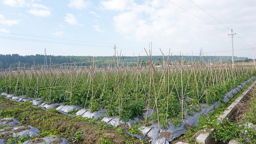
<path fill-rule="evenodd" d="M 183 60 L 191 61 L 191 56 L 172 56 L 171 61 L 180 60 L 182 57 Z M 104 63 L 106 65 L 114 65 L 114 56 L 53 56 L 47 55 L 47 64 L 70 64 L 70 63 L 80 63 L 78 65 L 88 66 L 91 64 L 92 60 L 95 60 L 97 66 L 102 66 Z M 119 58 L 119 57 L 118 57 Z M 221 60 L 227 61 L 231 60 L 231 56 L 193 56 L 193 61 L 206 61 L 209 60 Z M 162 64 L 163 59 L 168 59 L 168 56 L 152 56 L 152 61 L 156 62 L 156 64 Z M 121 56 L 120 62 L 126 65 L 134 65 L 137 63 L 138 57 L 134 56 Z M 252 59 L 248 59 L 247 57 L 236 57 L 234 56 L 234 60 L 236 61 L 251 61 Z M 139 61 L 142 64 L 147 64 L 149 62 L 148 56 L 140 56 Z M 103 63 L 104 62 L 104 63 Z M 36 55 L 26 55 L 20 56 L 19 54 L 0 54 L 0 68 L 16 68 L 20 67 L 31 67 L 32 65 L 42 66 L 44 64 L 44 55 L 36 54 Z"/>

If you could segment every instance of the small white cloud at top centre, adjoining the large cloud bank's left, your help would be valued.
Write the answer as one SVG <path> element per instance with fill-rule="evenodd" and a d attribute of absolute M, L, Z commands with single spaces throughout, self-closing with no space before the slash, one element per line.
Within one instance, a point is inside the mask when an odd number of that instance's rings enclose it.
<path fill-rule="evenodd" d="M 127 10 L 131 8 L 132 4 L 134 4 L 133 0 L 100 1 L 101 7 L 106 10 Z"/>

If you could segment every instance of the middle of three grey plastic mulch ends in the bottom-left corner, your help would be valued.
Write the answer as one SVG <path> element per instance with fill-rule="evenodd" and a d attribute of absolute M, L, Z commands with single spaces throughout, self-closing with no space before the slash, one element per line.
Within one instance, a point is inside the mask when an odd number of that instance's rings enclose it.
<path fill-rule="evenodd" d="M 34 128 L 33 126 L 18 126 L 14 127 L 13 130 L 18 130 L 18 129 L 24 129 L 20 132 L 13 132 L 12 136 L 29 136 L 31 138 L 36 137 L 40 134 L 40 130 L 38 128 Z"/>

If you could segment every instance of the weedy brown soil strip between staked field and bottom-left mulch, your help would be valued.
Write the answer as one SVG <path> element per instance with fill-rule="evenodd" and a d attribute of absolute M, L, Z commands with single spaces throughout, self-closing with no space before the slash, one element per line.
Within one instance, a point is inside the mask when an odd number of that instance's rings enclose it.
<path fill-rule="evenodd" d="M 5 105 L 10 102 L 13 104 Z M 6 113 L 12 110 L 12 113 L 8 115 L 17 120 L 23 120 L 23 125 L 30 125 L 38 128 L 41 132 L 43 131 L 44 133 L 41 133 L 39 138 L 47 137 L 50 133 L 54 132 L 54 134 L 62 135 L 63 138 L 68 139 L 74 144 L 96 144 L 100 143 L 102 138 L 110 138 L 114 144 L 125 144 L 126 141 L 141 144 L 138 139 L 134 139 L 125 133 L 121 134 L 114 128 L 103 128 L 101 125 L 91 124 L 88 120 L 72 118 L 56 111 L 44 111 L 30 104 L 24 105 L 24 103 L 10 101 L 4 97 L 0 97 L 0 110 L 3 111 L 0 113 L 1 117 L 6 117 Z M 15 110 L 19 110 L 19 115 L 17 115 Z M 28 114 L 30 116 L 24 120 L 24 116 Z M 41 119 L 42 116 L 44 117 L 43 120 Z M 82 138 L 80 140 L 74 139 L 78 130 L 82 131 Z M 101 132 L 103 133 L 97 135 L 97 133 Z M 149 144 L 148 140 L 144 143 Z"/>

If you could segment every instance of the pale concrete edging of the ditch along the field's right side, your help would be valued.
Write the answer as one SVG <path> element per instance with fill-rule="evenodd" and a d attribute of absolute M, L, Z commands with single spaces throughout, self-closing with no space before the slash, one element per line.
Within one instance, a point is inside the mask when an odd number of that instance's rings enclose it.
<path fill-rule="evenodd" d="M 243 102 L 248 98 L 248 96 L 252 93 L 253 90 L 256 89 L 256 81 L 245 90 L 241 96 L 236 98 L 236 100 L 224 111 L 222 115 L 218 117 L 218 124 L 224 123 L 224 120 L 227 118 L 230 119 L 235 114 L 236 110 L 238 109 L 238 104 Z M 211 134 L 215 132 L 215 129 L 210 129 L 207 133 L 202 133 L 196 138 L 196 142 L 199 144 L 217 144 L 217 142 L 211 137 Z M 240 144 L 235 140 L 230 140 L 229 144 Z"/>

